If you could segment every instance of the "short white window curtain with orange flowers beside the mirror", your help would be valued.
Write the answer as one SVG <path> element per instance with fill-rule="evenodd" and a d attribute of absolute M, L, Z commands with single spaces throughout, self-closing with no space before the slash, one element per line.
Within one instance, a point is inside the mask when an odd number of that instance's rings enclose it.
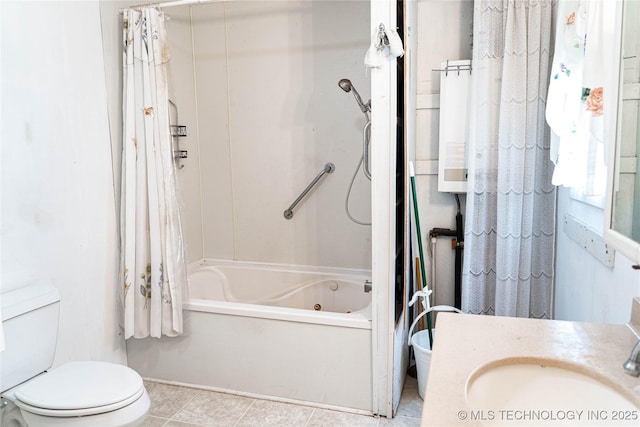
<path fill-rule="evenodd" d="M 607 15 L 600 0 L 560 0 L 547 123 L 554 185 L 602 196 L 607 184 L 604 96 Z M 610 17 L 610 22 L 614 17 Z M 609 30 L 611 31 L 611 30 Z"/>

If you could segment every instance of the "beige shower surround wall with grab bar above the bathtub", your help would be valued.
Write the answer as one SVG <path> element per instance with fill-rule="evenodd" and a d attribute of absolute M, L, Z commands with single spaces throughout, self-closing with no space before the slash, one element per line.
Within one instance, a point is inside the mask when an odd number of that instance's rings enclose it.
<path fill-rule="evenodd" d="M 182 62 L 189 56 L 188 11 L 167 10 L 181 121 L 197 118 L 189 129 L 195 144 L 185 141 L 193 160 L 181 172 L 183 212 L 192 218 L 186 227 L 193 228 L 186 233 L 189 259 L 371 268 L 370 227 L 350 222 L 343 209 L 365 120 L 337 85 L 349 78 L 369 98 L 362 62 L 368 2 L 225 2 L 192 10 L 192 69 Z M 194 74 L 197 96 L 182 99 Z M 200 181 L 185 175 L 197 169 L 198 150 Z M 284 219 L 327 162 L 335 172 Z M 362 175 L 351 203 L 354 215 L 370 219 Z M 202 243 L 194 225 L 200 214 Z"/>

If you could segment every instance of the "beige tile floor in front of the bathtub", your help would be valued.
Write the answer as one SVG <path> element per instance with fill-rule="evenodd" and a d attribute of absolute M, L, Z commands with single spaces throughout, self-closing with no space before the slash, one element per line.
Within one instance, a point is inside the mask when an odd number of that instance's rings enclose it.
<path fill-rule="evenodd" d="M 407 376 L 398 414 L 393 419 L 310 406 L 253 399 L 187 387 L 145 381 L 151 409 L 145 427 L 277 426 L 383 427 L 419 426 L 422 400 L 415 378 Z"/>

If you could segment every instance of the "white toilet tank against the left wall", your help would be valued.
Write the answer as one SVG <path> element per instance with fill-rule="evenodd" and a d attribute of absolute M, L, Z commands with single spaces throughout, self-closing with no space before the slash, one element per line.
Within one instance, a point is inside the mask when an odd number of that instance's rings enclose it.
<path fill-rule="evenodd" d="M 58 338 L 60 292 L 33 285 L 0 295 L 5 349 L 0 352 L 0 392 L 46 371 Z"/>

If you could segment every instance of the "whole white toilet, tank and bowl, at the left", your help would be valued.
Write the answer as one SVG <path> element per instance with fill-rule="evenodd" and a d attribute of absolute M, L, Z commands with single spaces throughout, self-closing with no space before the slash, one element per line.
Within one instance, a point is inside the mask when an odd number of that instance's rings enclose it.
<path fill-rule="evenodd" d="M 2 294 L 0 425 L 137 426 L 150 400 L 134 370 L 107 362 L 53 364 L 60 293 L 34 285 Z"/>

